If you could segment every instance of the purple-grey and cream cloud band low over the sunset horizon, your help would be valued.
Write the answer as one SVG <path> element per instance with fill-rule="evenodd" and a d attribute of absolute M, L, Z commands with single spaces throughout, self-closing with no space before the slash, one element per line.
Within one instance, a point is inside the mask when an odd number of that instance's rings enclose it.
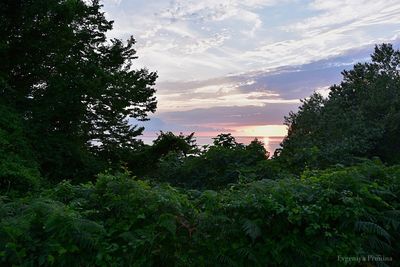
<path fill-rule="evenodd" d="M 179 125 L 179 129 L 203 133 L 225 129 L 240 134 L 255 125 L 270 129 L 271 125 L 282 125 L 289 111 L 297 110 L 299 99 L 313 91 L 327 96 L 329 87 L 340 82 L 340 72 L 367 58 L 372 48 L 352 49 L 334 58 L 270 72 L 160 83 L 155 117 L 175 125 L 173 129 Z M 260 127 L 255 129 L 264 129 Z"/>

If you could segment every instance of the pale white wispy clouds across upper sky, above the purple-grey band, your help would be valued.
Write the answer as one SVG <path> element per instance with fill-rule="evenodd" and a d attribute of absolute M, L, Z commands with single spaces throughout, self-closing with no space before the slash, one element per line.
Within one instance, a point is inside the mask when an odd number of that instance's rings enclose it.
<path fill-rule="evenodd" d="M 305 64 L 398 34 L 397 0 L 105 0 L 160 81 Z M 280 14 L 285 14 L 281 16 Z"/>

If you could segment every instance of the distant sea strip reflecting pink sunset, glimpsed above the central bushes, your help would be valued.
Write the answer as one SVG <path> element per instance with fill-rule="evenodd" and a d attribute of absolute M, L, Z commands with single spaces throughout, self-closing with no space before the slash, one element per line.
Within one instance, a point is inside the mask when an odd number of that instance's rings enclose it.
<path fill-rule="evenodd" d="M 213 142 L 213 137 L 215 136 L 196 136 L 196 143 L 199 146 L 203 145 L 210 145 Z M 141 136 L 140 137 L 145 144 L 152 144 L 153 140 L 156 139 L 156 136 Z M 236 142 L 242 143 L 242 144 L 249 144 L 251 141 L 254 140 L 254 138 L 257 138 L 259 141 L 264 143 L 265 149 L 271 153 L 271 155 L 274 154 L 275 149 L 279 148 L 279 144 L 282 142 L 283 136 L 271 136 L 271 137 L 257 137 L 257 136 L 235 136 Z"/>

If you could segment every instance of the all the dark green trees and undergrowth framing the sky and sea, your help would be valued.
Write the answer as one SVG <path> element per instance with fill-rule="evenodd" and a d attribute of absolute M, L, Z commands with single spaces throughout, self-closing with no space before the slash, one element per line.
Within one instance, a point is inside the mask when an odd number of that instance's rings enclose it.
<path fill-rule="evenodd" d="M 98 1 L 0 3 L 1 265 L 399 265 L 391 44 L 303 100 L 269 155 L 230 134 L 145 145 L 128 121 L 155 111 L 157 74 L 111 29 Z"/>

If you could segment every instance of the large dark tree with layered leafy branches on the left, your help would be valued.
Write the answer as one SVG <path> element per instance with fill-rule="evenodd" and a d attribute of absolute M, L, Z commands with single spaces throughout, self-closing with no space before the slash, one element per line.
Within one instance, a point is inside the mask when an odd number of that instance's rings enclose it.
<path fill-rule="evenodd" d="M 113 23 L 100 8 L 97 0 L 0 3 L 0 99 L 22 114 L 51 177 L 75 176 L 93 156 L 118 161 L 143 130 L 128 118 L 156 109 L 157 74 L 132 69 L 135 40 L 107 40 Z"/>

